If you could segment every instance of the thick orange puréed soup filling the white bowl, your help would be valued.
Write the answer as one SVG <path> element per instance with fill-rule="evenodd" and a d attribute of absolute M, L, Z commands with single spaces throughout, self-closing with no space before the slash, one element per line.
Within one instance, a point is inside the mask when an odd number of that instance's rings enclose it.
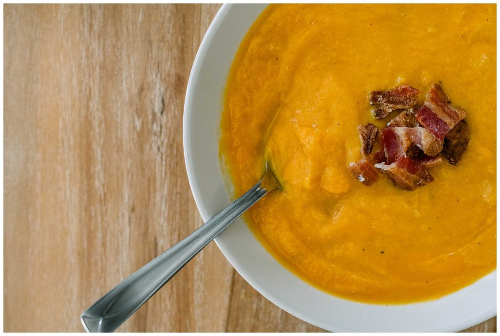
<path fill-rule="evenodd" d="M 232 64 L 221 161 L 235 195 L 267 159 L 283 190 L 246 220 L 286 267 L 334 295 L 375 303 L 437 298 L 496 263 L 495 4 L 270 5 Z M 458 166 L 414 191 L 347 171 L 370 90 L 433 82 L 468 112 Z M 391 114 L 392 116 L 392 114 Z"/>

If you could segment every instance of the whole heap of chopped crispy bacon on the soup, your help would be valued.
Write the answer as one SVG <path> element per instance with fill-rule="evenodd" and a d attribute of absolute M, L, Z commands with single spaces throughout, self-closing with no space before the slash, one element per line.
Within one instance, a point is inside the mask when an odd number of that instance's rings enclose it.
<path fill-rule="evenodd" d="M 414 190 L 434 180 L 426 168 L 442 162 L 440 152 L 450 164 L 460 161 L 470 140 L 463 120 L 467 112 L 451 105 L 438 83 L 430 86 L 423 105 L 413 107 L 418 93 L 409 85 L 370 92 L 375 118 L 384 118 L 394 109 L 404 110 L 380 131 L 369 122 L 357 127 L 363 159 L 350 162 L 348 169 L 365 185 L 378 179 L 379 169 L 397 187 Z M 376 138 L 381 149 L 369 156 Z"/>

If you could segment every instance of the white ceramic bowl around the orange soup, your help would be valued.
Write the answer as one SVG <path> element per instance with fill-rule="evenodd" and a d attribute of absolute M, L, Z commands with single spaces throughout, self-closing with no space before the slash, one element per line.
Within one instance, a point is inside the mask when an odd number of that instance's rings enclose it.
<path fill-rule="evenodd" d="M 194 59 L 184 103 L 189 184 L 207 221 L 231 201 L 218 159 L 223 91 L 234 54 L 263 4 L 224 4 Z M 265 198 L 261 201 L 265 201 Z M 216 239 L 236 271 L 271 302 L 331 331 L 457 331 L 496 314 L 496 271 L 440 299 L 401 305 L 359 303 L 314 288 L 279 264 L 242 219 Z"/>

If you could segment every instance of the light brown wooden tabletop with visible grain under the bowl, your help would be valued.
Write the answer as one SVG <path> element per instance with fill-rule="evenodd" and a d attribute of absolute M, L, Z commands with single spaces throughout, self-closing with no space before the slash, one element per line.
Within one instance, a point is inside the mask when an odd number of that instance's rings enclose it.
<path fill-rule="evenodd" d="M 218 8 L 4 5 L 5 331 L 82 331 L 88 305 L 201 224 L 182 107 Z M 118 330 L 321 331 L 214 243 Z"/>

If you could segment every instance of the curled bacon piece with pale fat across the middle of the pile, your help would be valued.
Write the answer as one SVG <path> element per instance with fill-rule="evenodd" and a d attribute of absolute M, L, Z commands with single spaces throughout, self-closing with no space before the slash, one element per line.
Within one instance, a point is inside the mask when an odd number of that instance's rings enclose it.
<path fill-rule="evenodd" d="M 380 130 L 378 140 L 383 147 L 387 163 L 395 161 L 401 153 L 406 153 L 411 144 L 415 144 L 424 154 L 437 155 L 442 149 L 438 141 L 423 127 L 387 127 Z"/>

